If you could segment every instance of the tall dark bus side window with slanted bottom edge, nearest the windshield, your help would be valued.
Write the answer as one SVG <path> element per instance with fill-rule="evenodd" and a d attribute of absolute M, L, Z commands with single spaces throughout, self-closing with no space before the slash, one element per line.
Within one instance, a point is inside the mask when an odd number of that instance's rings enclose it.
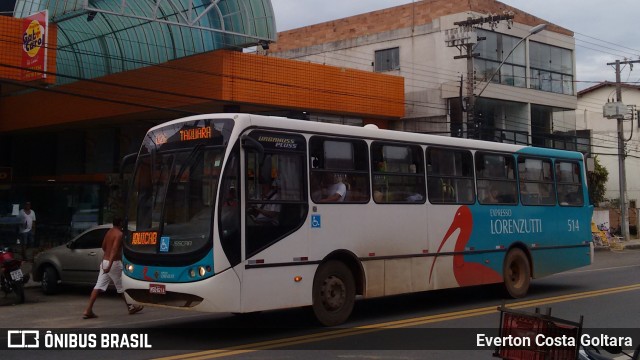
<path fill-rule="evenodd" d="M 306 219 L 306 140 L 300 135 L 254 131 L 264 153 L 245 154 L 246 257 L 274 244 Z"/>

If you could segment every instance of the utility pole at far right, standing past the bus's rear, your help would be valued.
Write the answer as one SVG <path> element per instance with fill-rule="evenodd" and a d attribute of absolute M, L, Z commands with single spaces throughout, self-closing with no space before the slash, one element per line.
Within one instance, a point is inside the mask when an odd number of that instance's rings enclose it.
<path fill-rule="evenodd" d="M 620 64 L 633 64 L 638 63 L 640 60 L 633 61 L 620 61 L 616 60 L 614 63 L 608 63 L 607 65 L 614 65 L 616 69 L 616 102 L 605 105 L 604 115 L 607 118 L 615 118 L 618 122 L 618 175 L 620 180 L 620 229 L 622 232 L 623 240 L 629 240 L 629 217 L 627 215 L 627 179 L 626 170 L 624 165 L 625 152 L 624 152 L 624 115 L 627 111 L 626 106 L 622 103 L 622 83 L 620 80 Z M 633 65 L 632 65 L 633 66 Z M 613 106 L 611 106 L 613 105 Z"/>

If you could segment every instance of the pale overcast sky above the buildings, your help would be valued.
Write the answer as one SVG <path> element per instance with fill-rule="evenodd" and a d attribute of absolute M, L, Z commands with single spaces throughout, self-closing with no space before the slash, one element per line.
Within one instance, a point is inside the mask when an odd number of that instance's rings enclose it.
<path fill-rule="evenodd" d="M 411 3 L 411 0 L 271 0 L 278 31 L 313 25 L 374 10 Z M 574 32 L 578 90 L 601 81 L 615 81 L 607 63 L 640 59 L 638 0 L 503 0 L 543 20 Z M 626 66 L 622 81 L 640 81 L 640 63 Z"/>

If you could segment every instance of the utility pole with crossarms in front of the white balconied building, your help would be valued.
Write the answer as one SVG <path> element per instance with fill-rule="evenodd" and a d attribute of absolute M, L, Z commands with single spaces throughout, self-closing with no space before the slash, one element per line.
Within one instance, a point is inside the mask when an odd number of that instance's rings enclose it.
<path fill-rule="evenodd" d="M 467 18 L 465 21 L 454 22 L 457 25 L 457 29 L 447 30 L 445 32 L 446 43 L 448 47 L 457 47 L 460 50 L 460 55 L 454 56 L 454 59 L 467 59 L 467 106 L 466 109 L 463 105 L 463 111 L 467 112 L 467 138 L 477 137 L 476 131 L 479 124 L 476 124 L 475 111 L 476 111 L 476 95 L 475 95 L 475 71 L 473 69 L 473 58 L 478 57 L 479 53 L 474 53 L 473 48 L 478 41 L 485 40 L 485 38 L 478 37 L 476 28 L 482 27 L 484 24 L 490 24 L 491 28 L 495 28 L 500 21 L 509 21 L 510 24 L 513 21 L 512 14 L 506 15 L 490 15 L 481 18 Z M 465 52 L 463 55 L 462 52 Z M 491 81 L 491 80 L 489 80 Z M 470 136 L 473 134 L 472 136 Z"/>

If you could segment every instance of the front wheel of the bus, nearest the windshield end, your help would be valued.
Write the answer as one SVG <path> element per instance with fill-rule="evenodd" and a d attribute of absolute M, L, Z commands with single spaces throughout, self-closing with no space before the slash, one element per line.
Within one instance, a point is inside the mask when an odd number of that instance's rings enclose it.
<path fill-rule="evenodd" d="M 321 264 L 313 279 L 313 312 L 324 326 L 345 322 L 351 315 L 356 298 L 351 270 L 336 260 Z"/>

